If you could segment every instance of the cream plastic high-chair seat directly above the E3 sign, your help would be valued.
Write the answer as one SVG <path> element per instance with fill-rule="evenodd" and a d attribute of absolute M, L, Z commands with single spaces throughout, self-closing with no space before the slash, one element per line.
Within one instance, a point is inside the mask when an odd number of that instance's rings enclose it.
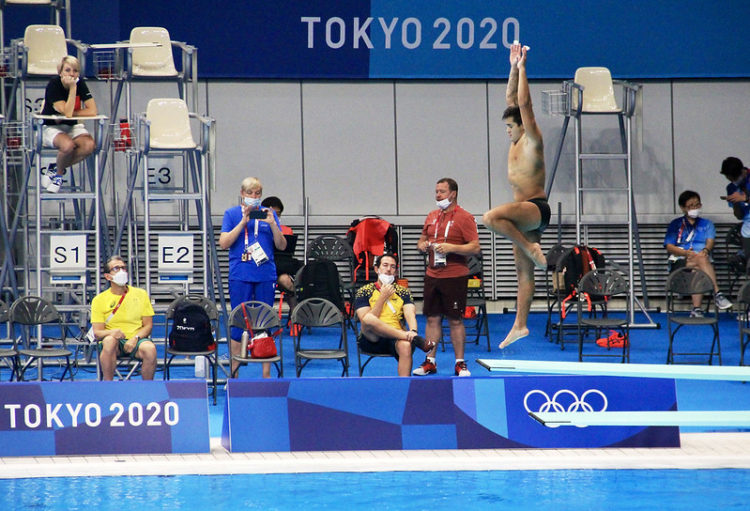
<path fill-rule="evenodd" d="M 151 149 L 195 149 L 187 104 L 178 98 L 155 98 L 148 102 Z"/>

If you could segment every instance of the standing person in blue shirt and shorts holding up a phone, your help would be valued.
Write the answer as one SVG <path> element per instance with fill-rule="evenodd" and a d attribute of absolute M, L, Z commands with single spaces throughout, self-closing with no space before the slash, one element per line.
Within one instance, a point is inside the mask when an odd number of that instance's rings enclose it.
<path fill-rule="evenodd" d="M 242 302 L 257 300 L 273 306 L 276 294 L 274 249 L 284 250 L 286 238 L 271 208 L 260 205 L 263 185 L 247 177 L 240 186 L 242 203 L 224 212 L 219 246 L 229 249 L 229 299 L 232 309 Z M 242 329 L 232 328 L 231 353 L 240 352 Z M 232 374 L 238 362 L 232 360 Z M 263 364 L 263 377 L 271 376 L 271 364 Z"/>

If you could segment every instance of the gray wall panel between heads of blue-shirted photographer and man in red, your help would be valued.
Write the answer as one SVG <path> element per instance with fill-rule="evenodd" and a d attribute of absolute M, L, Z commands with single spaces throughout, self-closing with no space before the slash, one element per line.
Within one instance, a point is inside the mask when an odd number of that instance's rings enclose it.
<path fill-rule="evenodd" d="M 391 83 L 303 83 L 312 215 L 396 214 Z"/>

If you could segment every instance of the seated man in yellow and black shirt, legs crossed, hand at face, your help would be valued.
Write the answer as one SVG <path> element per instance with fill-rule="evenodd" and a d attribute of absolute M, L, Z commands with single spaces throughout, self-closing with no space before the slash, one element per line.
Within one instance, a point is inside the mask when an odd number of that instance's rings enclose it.
<path fill-rule="evenodd" d="M 398 360 L 398 375 L 411 374 L 415 347 L 430 351 L 435 343 L 417 335 L 416 307 L 411 293 L 394 284 L 398 260 L 383 254 L 375 262 L 378 280 L 362 286 L 354 298 L 354 310 L 362 324 L 357 344 L 368 353 L 393 355 Z M 404 330 L 404 320 L 409 330 Z"/>

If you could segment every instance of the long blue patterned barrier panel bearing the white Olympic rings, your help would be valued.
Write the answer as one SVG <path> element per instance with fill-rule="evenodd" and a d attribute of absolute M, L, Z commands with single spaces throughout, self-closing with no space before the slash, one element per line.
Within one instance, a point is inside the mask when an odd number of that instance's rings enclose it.
<path fill-rule="evenodd" d="M 540 411 L 676 410 L 674 380 L 602 376 L 231 380 L 229 451 L 677 447 L 676 427 L 547 428 Z"/>

